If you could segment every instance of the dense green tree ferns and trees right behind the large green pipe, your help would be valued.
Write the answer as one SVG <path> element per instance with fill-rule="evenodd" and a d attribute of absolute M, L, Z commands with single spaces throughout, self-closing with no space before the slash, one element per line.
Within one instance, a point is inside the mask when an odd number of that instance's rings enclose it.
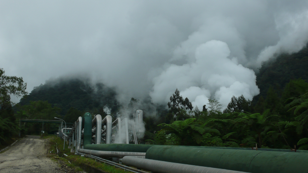
<path fill-rule="evenodd" d="M 308 83 L 303 84 L 308 90 Z M 285 112 L 278 114 L 266 103 L 261 113 L 247 112 L 253 109 L 249 100 L 243 102 L 242 96 L 233 99 L 225 113 L 216 109 L 218 102 L 203 111 L 194 109 L 191 115 L 182 109 L 187 119 L 170 110 L 176 121 L 160 124 L 163 129 L 147 141 L 160 145 L 254 147 L 257 143 L 258 147 L 308 148 L 308 92 L 285 100 L 281 103 Z"/>

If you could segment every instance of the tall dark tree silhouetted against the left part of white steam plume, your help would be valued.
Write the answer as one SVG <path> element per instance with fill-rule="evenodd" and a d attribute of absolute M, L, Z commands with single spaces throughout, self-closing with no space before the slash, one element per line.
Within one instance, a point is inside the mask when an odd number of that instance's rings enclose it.
<path fill-rule="evenodd" d="M 170 97 L 170 102 L 168 102 L 169 113 L 171 113 L 172 117 L 176 120 L 184 120 L 188 118 L 188 114 L 186 111 L 189 109 L 193 110 L 192 103 L 189 102 L 188 98 L 180 95 L 180 91 L 178 89 L 175 90 L 174 94 Z M 170 118 L 172 118 L 170 117 Z"/>

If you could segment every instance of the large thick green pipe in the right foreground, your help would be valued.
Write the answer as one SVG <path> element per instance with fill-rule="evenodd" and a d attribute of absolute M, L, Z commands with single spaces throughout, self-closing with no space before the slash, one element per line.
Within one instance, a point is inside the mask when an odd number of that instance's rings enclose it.
<path fill-rule="evenodd" d="M 307 153 L 153 146 L 145 158 L 252 173 L 308 173 Z"/>

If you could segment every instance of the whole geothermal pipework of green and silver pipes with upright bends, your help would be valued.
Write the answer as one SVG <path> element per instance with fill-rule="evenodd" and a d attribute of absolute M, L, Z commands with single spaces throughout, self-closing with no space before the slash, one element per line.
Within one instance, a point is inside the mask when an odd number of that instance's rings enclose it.
<path fill-rule="evenodd" d="M 133 120 L 113 122 L 110 115 L 92 119 L 85 113 L 63 136 L 70 139 L 69 148 L 76 155 L 117 160 L 155 173 L 308 173 L 304 150 L 137 144 L 136 133 L 144 130 L 142 121 L 141 110 Z"/>

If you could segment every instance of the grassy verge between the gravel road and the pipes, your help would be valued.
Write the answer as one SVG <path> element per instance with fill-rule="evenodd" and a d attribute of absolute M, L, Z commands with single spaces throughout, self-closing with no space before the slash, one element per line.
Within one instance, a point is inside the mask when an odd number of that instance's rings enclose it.
<path fill-rule="evenodd" d="M 63 151 L 63 139 L 60 139 L 57 137 L 57 135 L 47 135 L 44 136 L 43 139 L 48 139 L 48 157 L 54 160 L 62 160 L 64 163 L 67 164 L 67 166 L 74 168 L 75 171 L 81 171 L 79 167 L 82 165 L 88 165 L 91 167 L 94 167 L 96 169 L 100 169 L 102 171 L 106 171 L 109 173 L 126 173 L 127 171 L 124 171 L 123 169 L 116 168 L 115 166 L 111 166 L 107 163 L 98 162 L 95 159 L 87 158 L 87 157 L 81 157 L 80 155 L 75 155 L 74 153 L 71 153 L 71 149 L 67 148 L 68 144 L 65 143 L 65 150 Z M 58 149 L 58 154 L 57 154 Z M 62 157 L 63 154 L 68 155 L 67 157 Z M 68 161 L 71 161 L 69 163 Z"/>

